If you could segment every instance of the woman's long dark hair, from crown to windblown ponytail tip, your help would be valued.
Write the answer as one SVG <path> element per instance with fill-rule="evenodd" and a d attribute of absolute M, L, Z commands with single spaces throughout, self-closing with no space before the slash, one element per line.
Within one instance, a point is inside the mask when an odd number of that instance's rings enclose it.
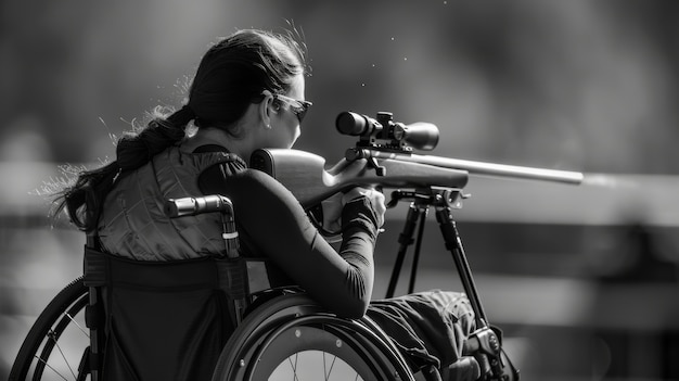
<path fill-rule="evenodd" d="M 75 185 L 57 199 L 54 214 L 65 208 L 80 230 L 95 229 L 102 203 L 116 179 L 180 142 L 191 120 L 198 128 L 217 127 L 238 138 L 234 122 L 249 103 L 262 99 L 264 90 L 284 93 L 294 76 L 308 74 L 306 47 L 299 37 L 296 31 L 244 29 L 215 43 L 201 60 L 187 105 L 123 136 L 117 142 L 116 160 L 80 173 Z"/>

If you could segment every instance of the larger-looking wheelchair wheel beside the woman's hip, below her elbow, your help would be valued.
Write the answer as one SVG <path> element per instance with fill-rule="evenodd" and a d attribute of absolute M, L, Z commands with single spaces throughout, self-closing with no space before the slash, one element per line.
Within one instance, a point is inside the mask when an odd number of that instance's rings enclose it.
<path fill-rule="evenodd" d="M 213 380 L 413 380 L 370 325 L 325 314 L 308 296 L 276 297 L 251 313 L 227 343 Z"/>

